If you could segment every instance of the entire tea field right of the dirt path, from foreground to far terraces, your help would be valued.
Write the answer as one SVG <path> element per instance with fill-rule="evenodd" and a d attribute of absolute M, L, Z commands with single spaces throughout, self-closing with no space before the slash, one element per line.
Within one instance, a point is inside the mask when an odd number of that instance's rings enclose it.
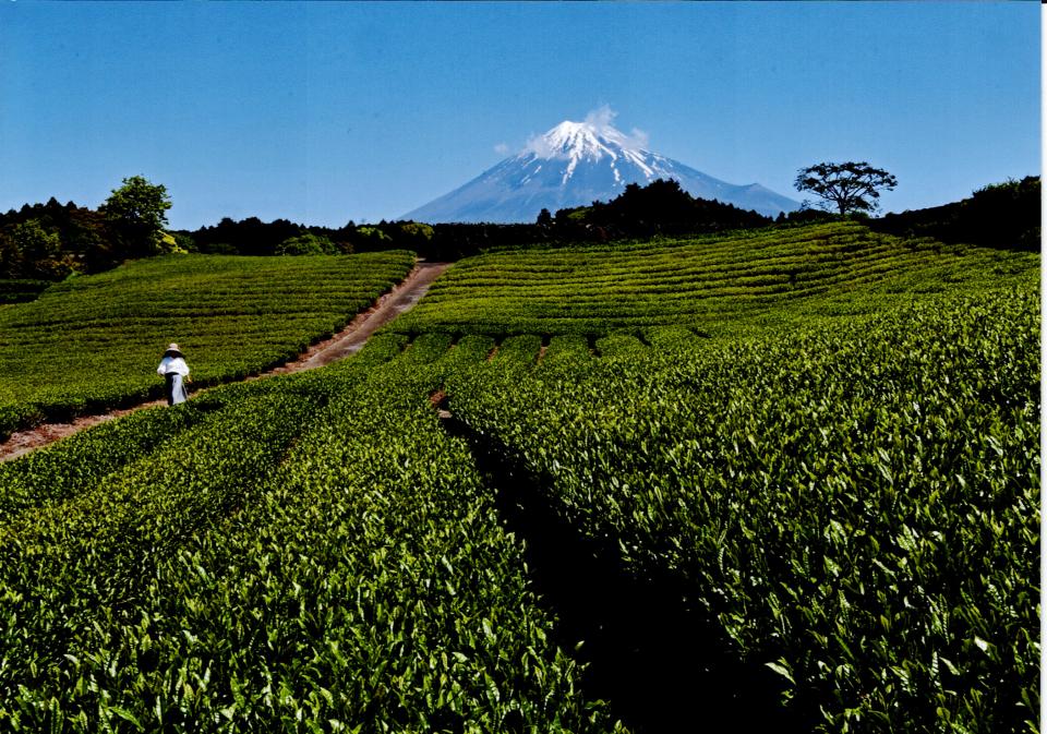
<path fill-rule="evenodd" d="M 1039 731 L 1038 267 L 490 253 L 354 358 L 0 465 L 0 727 Z"/>

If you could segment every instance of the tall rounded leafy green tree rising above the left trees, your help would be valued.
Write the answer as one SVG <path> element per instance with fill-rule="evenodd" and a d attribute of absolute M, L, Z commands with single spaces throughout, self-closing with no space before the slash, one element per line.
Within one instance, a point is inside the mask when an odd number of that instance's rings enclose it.
<path fill-rule="evenodd" d="M 171 198 L 164 185 L 154 185 L 141 176 L 123 185 L 99 207 L 109 224 L 119 250 L 125 256 L 147 257 L 165 251 L 164 227 Z"/>

